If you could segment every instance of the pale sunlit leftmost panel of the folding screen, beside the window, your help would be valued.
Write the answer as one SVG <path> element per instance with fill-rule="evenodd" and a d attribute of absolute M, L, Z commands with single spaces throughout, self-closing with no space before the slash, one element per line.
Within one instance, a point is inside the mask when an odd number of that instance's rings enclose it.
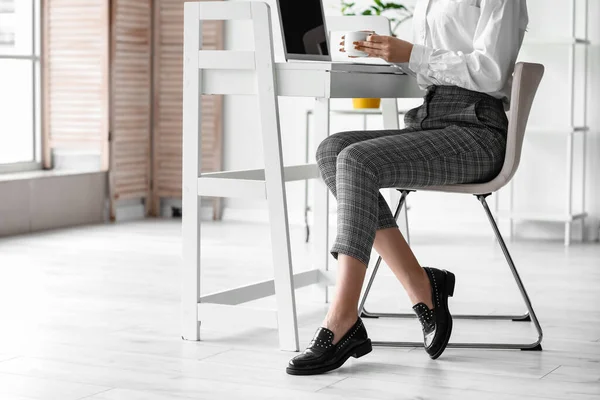
<path fill-rule="evenodd" d="M 108 0 L 42 2 L 43 163 L 53 151 L 108 169 Z"/>

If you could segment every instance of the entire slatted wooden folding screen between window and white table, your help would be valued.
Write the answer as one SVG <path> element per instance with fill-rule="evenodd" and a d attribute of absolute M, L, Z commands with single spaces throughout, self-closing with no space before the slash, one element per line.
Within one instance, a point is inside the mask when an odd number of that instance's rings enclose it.
<path fill-rule="evenodd" d="M 113 218 L 119 200 L 145 199 L 159 215 L 161 198 L 181 198 L 184 1 L 43 3 L 44 164 L 53 149 L 99 154 Z M 203 33 L 205 48 L 223 48 L 222 22 Z M 202 107 L 202 166 L 218 171 L 222 99 Z"/>

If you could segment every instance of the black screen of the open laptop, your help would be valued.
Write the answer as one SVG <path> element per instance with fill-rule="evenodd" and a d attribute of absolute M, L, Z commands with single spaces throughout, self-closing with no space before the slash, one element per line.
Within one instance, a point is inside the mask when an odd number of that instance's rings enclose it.
<path fill-rule="evenodd" d="M 287 59 L 331 60 L 321 0 L 278 0 Z"/>

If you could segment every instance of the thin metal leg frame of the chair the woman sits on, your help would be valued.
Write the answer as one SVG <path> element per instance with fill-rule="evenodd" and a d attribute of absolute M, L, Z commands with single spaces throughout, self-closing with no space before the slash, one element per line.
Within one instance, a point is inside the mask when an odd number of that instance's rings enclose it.
<path fill-rule="evenodd" d="M 402 207 L 404 206 L 404 203 L 406 201 L 406 196 L 408 196 L 409 193 L 410 193 L 409 191 L 402 191 L 402 197 L 400 198 L 398 208 L 396 209 L 396 212 L 394 213 L 395 218 L 398 218 L 398 216 L 400 215 Z M 542 342 L 542 338 L 543 338 L 542 327 L 540 326 L 540 323 L 537 319 L 535 311 L 533 310 L 533 306 L 531 304 L 531 300 L 529 299 L 529 295 L 527 294 L 527 291 L 525 290 L 523 281 L 521 280 L 521 277 L 519 276 L 517 268 L 515 267 L 515 264 L 510 255 L 510 252 L 508 251 L 508 248 L 506 247 L 506 243 L 504 242 L 502 234 L 500 233 L 500 230 L 498 229 L 496 220 L 494 219 L 494 217 L 490 211 L 490 208 L 487 204 L 486 198 L 488 196 L 489 195 L 477 195 L 476 197 L 481 202 L 481 205 L 483 206 L 483 209 L 490 221 L 490 224 L 492 225 L 492 230 L 494 231 L 494 234 L 496 236 L 496 239 L 498 240 L 498 244 L 500 245 L 500 247 L 502 249 L 504 257 L 506 258 L 506 262 L 508 263 L 508 266 L 513 274 L 515 282 L 517 283 L 517 286 L 519 287 L 519 291 L 521 292 L 521 296 L 523 297 L 523 301 L 525 302 L 528 312 L 523 315 L 457 314 L 457 315 L 453 315 L 452 317 L 454 319 L 469 319 L 469 320 L 512 320 L 512 321 L 533 322 L 533 324 L 536 328 L 536 331 L 538 333 L 538 339 L 533 343 L 526 343 L 526 344 L 520 344 L 520 343 L 519 344 L 513 344 L 513 343 L 449 343 L 448 347 L 449 348 L 542 350 L 542 346 L 541 346 L 541 342 Z M 367 297 L 369 295 L 369 292 L 371 290 L 373 282 L 375 281 L 375 276 L 377 275 L 377 271 L 379 269 L 381 261 L 382 261 L 382 259 L 381 259 L 381 257 L 379 257 L 377 259 L 377 263 L 375 264 L 375 267 L 373 268 L 373 271 L 369 278 L 369 282 L 367 283 L 366 289 L 365 289 L 362 299 L 360 301 L 359 315 L 361 315 L 364 318 L 415 318 L 415 315 L 410 314 L 410 313 L 372 313 L 365 309 L 365 302 L 367 300 Z M 374 346 L 385 346 L 385 347 L 423 347 L 422 342 L 373 341 L 372 343 Z"/>

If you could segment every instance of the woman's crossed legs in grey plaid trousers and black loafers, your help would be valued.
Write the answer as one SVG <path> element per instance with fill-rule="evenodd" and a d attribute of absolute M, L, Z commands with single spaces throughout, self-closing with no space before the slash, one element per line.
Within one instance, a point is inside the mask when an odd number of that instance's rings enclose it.
<path fill-rule="evenodd" d="M 412 293 L 411 298 L 418 301 L 427 293 L 420 288 L 421 269 L 414 255 L 399 232 L 394 234 L 395 229 L 389 229 L 397 225 L 385 200 L 381 202 L 379 189 L 475 182 L 490 178 L 502 166 L 503 152 L 497 151 L 496 146 L 480 146 L 472 139 L 472 130 L 448 127 L 396 133 L 349 145 L 343 142 L 343 137 L 334 135 L 332 141 L 339 142 L 337 148 L 329 142 L 331 138 L 319 146 L 317 162 L 338 202 L 337 237 L 331 249 L 338 259 L 338 281 L 324 326 L 317 329 L 306 350 L 290 360 L 286 369 L 289 374 L 331 371 L 349 357 L 362 357 L 371 351 L 371 341 L 358 318 L 357 307 L 376 236 L 379 250 Z M 346 135 L 364 138 L 365 134 Z M 340 144 L 346 147 L 338 151 Z M 501 159 L 496 160 L 500 153 Z M 454 291 L 454 275 L 433 268 L 426 268 L 425 273 L 434 293 L 427 297 L 435 302 L 435 312 L 422 303 L 413 308 L 423 327 L 425 349 L 435 359 L 444 351 L 452 332 L 447 299 Z"/>

